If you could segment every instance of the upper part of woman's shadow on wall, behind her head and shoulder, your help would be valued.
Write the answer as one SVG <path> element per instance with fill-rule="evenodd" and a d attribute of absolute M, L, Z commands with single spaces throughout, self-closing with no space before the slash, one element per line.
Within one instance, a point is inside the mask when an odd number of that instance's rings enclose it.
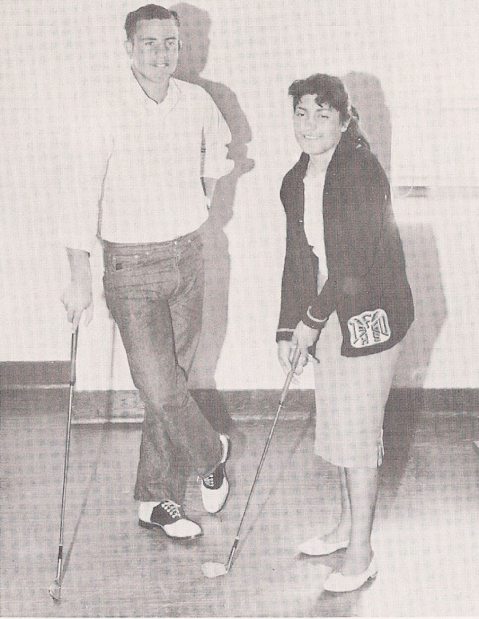
<path fill-rule="evenodd" d="M 358 110 L 360 126 L 371 151 L 378 157 L 387 178 L 391 178 L 391 114 L 381 82 L 368 73 L 350 71 L 342 78 L 351 99 Z"/>

